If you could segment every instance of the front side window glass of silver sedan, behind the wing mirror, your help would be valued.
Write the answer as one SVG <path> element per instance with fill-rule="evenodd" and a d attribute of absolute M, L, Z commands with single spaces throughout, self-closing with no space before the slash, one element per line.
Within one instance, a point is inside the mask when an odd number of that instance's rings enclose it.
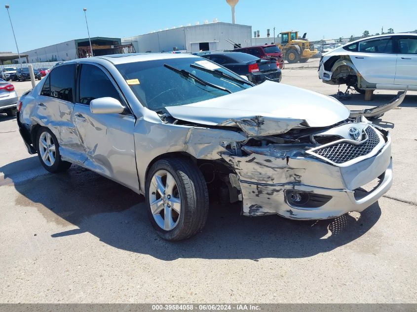
<path fill-rule="evenodd" d="M 82 64 L 79 76 L 80 104 L 89 105 L 91 100 L 110 97 L 119 100 L 119 93 L 106 73 L 95 65 Z"/>

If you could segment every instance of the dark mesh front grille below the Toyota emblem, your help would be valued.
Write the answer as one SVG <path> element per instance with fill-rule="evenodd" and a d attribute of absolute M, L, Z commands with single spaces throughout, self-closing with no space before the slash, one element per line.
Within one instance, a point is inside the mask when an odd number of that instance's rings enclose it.
<path fill-rule="evenodd" d="M 365 129 L 368 139 L 362 144 L 338 143 L 326 146 L 313 151 L 313 153 L 324 157 L 336 164 L 342 164 L 359 156 L 369 154 L 379 143 L 379 137 L 372 127 Z"/>

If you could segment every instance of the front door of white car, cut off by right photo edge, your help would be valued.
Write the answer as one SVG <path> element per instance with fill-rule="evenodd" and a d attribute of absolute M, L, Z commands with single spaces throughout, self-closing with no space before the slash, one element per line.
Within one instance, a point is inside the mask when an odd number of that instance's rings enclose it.
<path fill-rule="evenodd" d="M 398 38 L 395 84 L 417 86 L 417 36 Z"/>

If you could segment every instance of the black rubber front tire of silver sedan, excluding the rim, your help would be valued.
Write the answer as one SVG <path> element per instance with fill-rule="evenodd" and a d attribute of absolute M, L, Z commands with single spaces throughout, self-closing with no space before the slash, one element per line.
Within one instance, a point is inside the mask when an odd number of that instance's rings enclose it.
<path fill-rule="evenodd" d="M 164 230 L 156 223 L 150 205 L 152 177 L 161 170 L 174 177 L 181 198 L 181 213 L 178 223 L 169 231 Z M 207 220 L 209 198 L 204 176 L 194 163 L 182 158 L 158 160 L 149 170 L 145 187 L 149 219 L 160 237 L 167 241 L 181 241 L 202 230 Z"/>

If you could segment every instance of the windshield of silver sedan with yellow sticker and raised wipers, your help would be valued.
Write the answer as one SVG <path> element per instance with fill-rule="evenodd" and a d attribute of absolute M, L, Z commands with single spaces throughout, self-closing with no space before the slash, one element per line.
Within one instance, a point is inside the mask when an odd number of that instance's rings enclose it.
<path fill-rule="evenodd" d="M 199 83 L 192 77 L 187 77 L 175 70 L 185 69 L 199 79 L 208 82 L 207 85 Z M 127 84 L 144 106 L 154 111 L 164 111 L 164 107 L 185 105 L 205 101 L 238 92 L 251 86 L 227 79 L 215 73 L 206 72 L 191 67 L 200 66 L 206 69 L 218 69 L 237 79 L 241 79 L 235 73 L 220 67 L 203 58 L 175 58 L 146 62 L 126 63 L 116 65 Z M 222 87 L 220 90 L 209 84 Z"/>

